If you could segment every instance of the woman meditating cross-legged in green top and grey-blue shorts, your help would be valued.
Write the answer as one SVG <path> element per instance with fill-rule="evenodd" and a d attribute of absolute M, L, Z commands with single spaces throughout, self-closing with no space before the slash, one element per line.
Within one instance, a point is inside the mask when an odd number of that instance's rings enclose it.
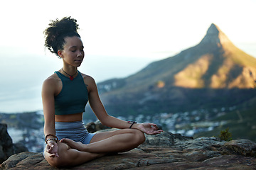
<path fill-rule="evenodd" d="M 162 132 L 153 123 L 137 124 L 107 114 L 95 80 L 78 71 L 85 54 L 76 22 L 70 17 L 57 19 L 44 32 L 45 46 L 63 60 L 63 68 L 48 77 L 42 88 L 44 156 L 52 166 L 75 166 L 107 153 L 127 152 L 144 142 L 144 132 L 150 135 Z M 82 123 L 87 101 L 103 125 L 120 130 L 87 132 Z"/>

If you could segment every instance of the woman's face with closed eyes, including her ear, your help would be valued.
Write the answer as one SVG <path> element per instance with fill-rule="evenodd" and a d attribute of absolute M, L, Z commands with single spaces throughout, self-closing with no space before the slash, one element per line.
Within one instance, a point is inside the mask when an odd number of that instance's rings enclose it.
<path fill-rule="evenodd" d="M 85 57 L 84 46 L 82 40 L 77 37 L 65 38 L 63 50 L 58 51 L 58 55 L 63 58 L 63 62 L 73 67 L 79 67 Z"/>

